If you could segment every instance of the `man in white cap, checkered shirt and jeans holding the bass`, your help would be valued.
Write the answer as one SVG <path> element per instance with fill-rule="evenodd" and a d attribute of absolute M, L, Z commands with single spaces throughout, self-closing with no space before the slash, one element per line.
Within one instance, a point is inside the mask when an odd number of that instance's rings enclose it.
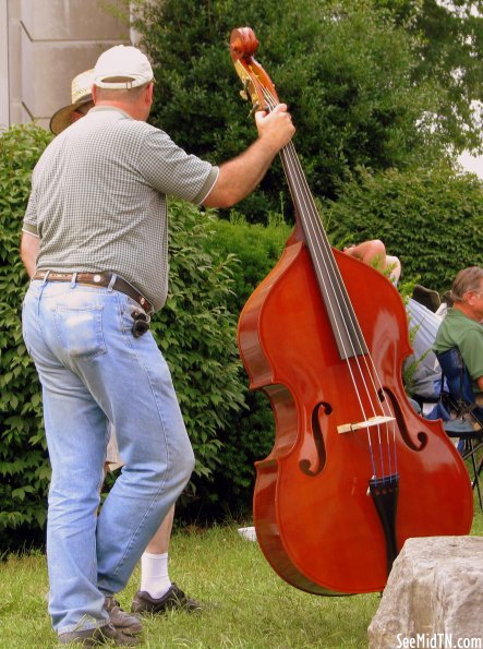
<path fill-rule="evenodd" d="M 194 455 L 150 315 L 168 290 L 167 196 L 230 207 L 294 134 L 286 105 L 219 167 L 146 123 L 154 75 L 131 46 L 94 68 L 95 107 L 47 146 L 32 177 L 21 254 L 23 335 L 43 386 L 52 468 L 49 612 L 60 644 L 138 644 L 122 590 L 190 480 Z M 108 422 L 125 465 L 97 516 Z M 129 620 L 128 620 L 129 618 Z M 134 621 L 136 618 L 134 617 Z"/>

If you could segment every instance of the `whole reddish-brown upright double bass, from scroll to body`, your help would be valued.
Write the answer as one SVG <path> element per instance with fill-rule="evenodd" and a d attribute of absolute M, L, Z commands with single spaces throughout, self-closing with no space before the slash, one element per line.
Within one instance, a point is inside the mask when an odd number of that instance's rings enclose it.
<path fill-rule="evenodd" d="M 279 101 L 249 27 L 230 48 L 255 109 Z M 333 249 L 293 143 L 281 152 L 295 228 L 249 298 L 239 348 L 269 398 L 274 447 L 256 462 L 259 545 L 292 586 L 315 594 L 378 591 L 406 539 L 464 534 L 467 469 L 440 422 L 421 418 L 401 378 L 411 348 L 398 291 Z"/>

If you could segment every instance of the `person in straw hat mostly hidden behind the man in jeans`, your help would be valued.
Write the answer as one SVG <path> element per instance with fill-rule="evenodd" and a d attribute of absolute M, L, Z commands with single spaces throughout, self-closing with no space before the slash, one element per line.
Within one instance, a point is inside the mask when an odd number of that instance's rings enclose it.
<path fill-rule="evenodd" d="M 50 120 L 50 131 L 59 135 L 68 127 L 83 118 L 94 107 L 92 86 L 94 70 L 77 74 L 71 84 L 72 104 L 56 111 Z M 116 430 L 109 424 L 109 443 L 106 454 L 106 470 L 117 470 L 123 466 L 116 441 Z M 183 608 L 196 611 L 201 604 L 184 594 L 169 578 L 169 541 L 174 519 L 174 505 L 165 517 L 159 529 L 149 541 L 141 557 L 141 585 L 132 602 L 135 613 L 164 613 L 168 610 Z M 110 616 L 117 614 L 118 602 L 113 598 L 107 600 Z"/>

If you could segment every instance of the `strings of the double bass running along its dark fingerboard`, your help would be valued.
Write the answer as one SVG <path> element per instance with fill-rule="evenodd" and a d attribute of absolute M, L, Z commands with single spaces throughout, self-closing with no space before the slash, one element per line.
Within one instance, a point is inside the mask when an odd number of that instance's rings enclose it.
<path fill-rule="evenodd" d="M 273 110 L 275 106 L 278 104 L 275 97 L 264 87 L 264 96 L 268 103 L 269 109 Z M 360 395 L 360 388 L 358 385 L 358 380 L 354 375 L 352 364 L 350 362 L 350 357 L 354 358 L 355 364 L 355 372 L 359 373 L 359 377 L 362 382 L 362 389 L 365 390 L 369 401 L 371 404 L 372 416 L 375 417 L 379 412 L 379 408 L 383 411 L 383 414 L 388 417 L 394 417 L 391 408 L 387 399 L 383 398 L 379 399 L 377 396 L 378 394 L 384 395 L 382 389 L 381 380 L 377 374 L 377 370 L 375 368 L 374 361 L 372 356 L 367 353 L 362 353 L 363 363 L 365 364 L 366 374 L 370 376 L 372 383 L 372 389 L 366 383 L 365 374 L 361 366 L 361 354 L 358 352 L 358 349 L 353 342 L 355 340 L 358 342 L 359 349 L 367 350 L 367 346 L 364 340 L 363 332 L 359 325 L 359 322 L 355 316 L 355 312 L 353 310 L 350 297 L 347 292 L 345 287 L 343 280 L 341 278 L 339 268 L 336 264 L 331 247 L 328 242 L 326 237 L 325 230 L 323 228 L 318 211 L 315 206 L 312 193 L 310 191 L 309 184 L 306 182 L 305 175 L 302 170 L 300 165 L 299 157 L 297 155 L 295 148 L 293 143 L 290 142 L 280 152 L 282 165 L 286 171 L 286 176 L 289 180 L 289 188 L 292 193 L 292 199 L 295 205 L 300 205 L 301 209 L 301 219 L 302 226 L 304 229 L 304 233 L 307 238 L 307 244 L 310 249 L 313 251 L 312 259 L 314 264 L 316 265 L 316 269 L 319 272 L 317 276 L 322 281 L 324 287 L 325 295 L 327 297 L 328 304 L 326 307 L 330 309 L 334 315 L 334 323 L 336 326 L 335 334 L 339 336 L 341 341 L 342 348 L 345 350 L 346 362 L 348 364 L 349 374 L 351 376 L 351 381 L 353 384 L 354 393 L 357 395 L 361 413 L 364 420 L 367 419 L 367 413 L 365 412 L 364 405 L 362 402 L 362 398 Z M 325 273 L 322 272 L 324 268 Z M 328 281 L 330 286 L 327 286 L 325 276 L 328 277 Z M 333 297 L 330 297 L 330 295 Z M 342 316 L 342 313 L 346 313 L 346 317 Z M 347 319 L 348 316 L 348 319 Z M 349 320 L 349 322 L 348 322 Z M 350 353 L 349 350 L 346 349 L 345 337 L 341 335 L 341 327 L 343 327 L 347 339 L 349 340 L 350 345 Z M 367 362 L 367 358 L 370 360 L 371 366 Z M 371 371 L 372 368 L 372 371 Z M 376 386 L 376 382 L 378 384 L 378 388 Z M 385 443 L 382 438 L 382 425 L 384 425 L 385 434 Z M 396 452 L 396 426 L 394 421 L 390 423 L 377 424 L 375 426 L 377 429 L 377 443 L 378 443 L 378 455 L 379 455 L 379 464 L 381 464 L 381 471 L 382 476 L 386 476 L 386 468 L 385 468 L 385 460 L 384 460 L 384 450 L 383 446 L 386 446 L 386 454 L 387 454 L 387 462 L 388 462 L 388 474 L 393 474 L 394 471 L 397 471 L 397 452 Z M 370 430 L 366 429 L 366 437 L 367 444 L 370 448 L 371 461 L 373 466 L 374 477 L 377 477 L 377 469 L 376 462 L 374 458 L 373 447 L 372 447 L 372 438 Z"/>

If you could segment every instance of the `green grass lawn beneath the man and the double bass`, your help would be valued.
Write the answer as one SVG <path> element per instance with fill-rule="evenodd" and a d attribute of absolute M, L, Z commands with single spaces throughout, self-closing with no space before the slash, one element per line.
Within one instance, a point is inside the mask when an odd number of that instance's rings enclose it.
<path fill-rule="evenodd" d="M 475 507 L 472 533 L 483 536 Z M 237 526 L 173 534 L 170 576 L 206 604 L 201 613 L 170 612 L 145 618 L 140 648 L 364 648 L 366 629 L 379 603 L 377 593 L 323 598 L 285 584 L 257 543 Z M 138 586 L 136 572 L 119 599 L 129 609 Z M 0 648 L 56 647 L 45 594 L 45 556 L 10 556 L 0 564 Z"/>

